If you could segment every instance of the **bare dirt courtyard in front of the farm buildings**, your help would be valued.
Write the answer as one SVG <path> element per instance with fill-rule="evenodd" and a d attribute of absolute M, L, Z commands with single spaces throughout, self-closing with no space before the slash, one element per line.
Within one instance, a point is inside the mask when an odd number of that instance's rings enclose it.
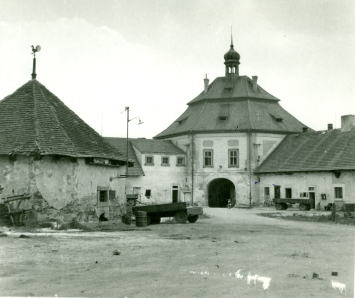
<path fill-rule="evenodd" d="M 262 212 L 276 210 L 204 208 L 210 218 L 194 224 L 111 231 L 11 231 L 0 237 L 0 296 L 354 297 L 354 225 Z"/>

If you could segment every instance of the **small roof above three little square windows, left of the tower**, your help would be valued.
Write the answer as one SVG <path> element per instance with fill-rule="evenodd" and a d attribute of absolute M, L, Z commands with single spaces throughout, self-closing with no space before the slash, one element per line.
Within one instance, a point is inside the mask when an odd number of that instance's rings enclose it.
<path fill-rule="evenodd" d="M 130 142 L 142 153 L 186 154 L 169 140 L 130 139 Z"/>

